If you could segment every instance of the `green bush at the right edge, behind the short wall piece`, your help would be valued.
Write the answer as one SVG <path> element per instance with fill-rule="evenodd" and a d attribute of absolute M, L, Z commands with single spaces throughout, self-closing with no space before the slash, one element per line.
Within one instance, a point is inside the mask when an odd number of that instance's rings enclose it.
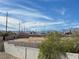
<path fill-rule="evenodd" d="M 65 52 L 79 53 L 79 39 L 78 37 L 65 37 L 62 38 L 61 44 Z"/>

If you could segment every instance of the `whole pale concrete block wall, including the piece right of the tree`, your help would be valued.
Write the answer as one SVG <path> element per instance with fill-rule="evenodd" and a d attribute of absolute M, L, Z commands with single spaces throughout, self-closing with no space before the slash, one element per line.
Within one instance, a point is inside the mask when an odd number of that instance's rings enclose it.
<path fill-rule="evenodd" d="M 5 52 L 20 59 L 38 59 L 39 49 L 32 47 L 15 46 L 14 44 L 4 43 Z M 78 59 L 78 54 L 67 53 L 69 59 Z M 66 58 L 62 58 L 66 59 Z"/>

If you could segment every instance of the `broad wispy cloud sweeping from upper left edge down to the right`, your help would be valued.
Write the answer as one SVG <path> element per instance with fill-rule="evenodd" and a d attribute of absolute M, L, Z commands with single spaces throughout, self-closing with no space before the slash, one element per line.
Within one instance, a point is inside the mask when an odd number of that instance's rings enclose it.
<path fill-rule="evenodd" d="M 25 2 L 24 0 L 21 0 L 21 1 Z M 51 20 L 51 21 L 53 20 L 53 18 L 44 15 L 37 9 L 33 9 L 30 7 L 24 6 L 22 4 L 19 4 L 19 3 L 14 4 L 14 3 L 5 2 L 5 1 L 3 3 L 5 5 L 9 5 L 9 6 L 2 6 L 0 8 L 1 13 L 9 12 L 11 14 L 16 14 L 17 16 L 21 15 L 21 16 L 26 16 L 26 17 L 30 17 L 30 18 L 43 18 L 43 19 L 47 19 L 47 20 Z M 33 2 L 27 1 L 27 3 L 32 4 Z M 14 8 L 14 7 L 17 7 L 17 8 Z"/>

